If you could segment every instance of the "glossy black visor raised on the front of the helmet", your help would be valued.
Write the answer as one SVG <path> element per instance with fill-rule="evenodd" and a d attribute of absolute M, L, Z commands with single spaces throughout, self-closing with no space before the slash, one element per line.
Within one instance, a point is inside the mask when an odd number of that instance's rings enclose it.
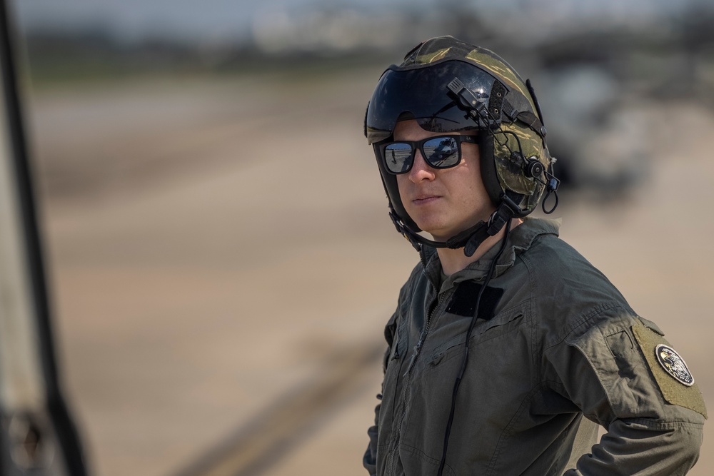
<path fill-rule="evenodd" d="M 389 138 L 396 122 L 413 118 L 430 132 L 458 132 L 478 128 L 448 94 L 448 83 L 460 79 L 488 106 L 496 79 L 466 61 L 449 60 L 400 68 L 390 66 L 377 83 L 367 108 L 368 143 Z"/>

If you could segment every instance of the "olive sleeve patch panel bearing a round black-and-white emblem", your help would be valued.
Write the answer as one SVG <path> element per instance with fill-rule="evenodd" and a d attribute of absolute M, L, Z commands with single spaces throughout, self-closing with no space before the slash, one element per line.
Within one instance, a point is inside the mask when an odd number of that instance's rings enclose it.
<path fill-rule="evenodd" d="M 643 324 L 633 325 L 632 333 L 664 399 L 707 418 L 704 398 L 683 358 L 660 333 Z"/>

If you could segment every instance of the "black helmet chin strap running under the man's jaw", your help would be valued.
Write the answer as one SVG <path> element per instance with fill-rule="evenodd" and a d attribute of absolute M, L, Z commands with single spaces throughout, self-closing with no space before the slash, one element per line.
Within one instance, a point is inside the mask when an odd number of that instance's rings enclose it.
<path fill-rule="evenodd" d="M 481 220 L 476 223 L 476 225 L 457 233 L 446 241 L 424 238 L 403 223 L 391 206 L 389 217 L 392 219 L 392 223 L 394 223 L 397 231 L 401 233 L 404 238 L 409 240 L 409 243 L 411 243 L 417 251 L 421 251 L 422 245 L 431 246 L 433 248 L 463 248 L 463 254 L 470 258 L 473 256 L 473 253 L 476 253 L 476 250 L 486 238 L 495 236 L 501 231 L 503 226 L 511 221 L 512 218 L 515 218 L 520 211 L 516 203 L 513 203 L 506 194 L 503 194 L 503 196 L 501 196 L 501 203 L 498 205 L 498 208 L 496 208 L 496 211 L 488 218 L 488 222 Z"/>

